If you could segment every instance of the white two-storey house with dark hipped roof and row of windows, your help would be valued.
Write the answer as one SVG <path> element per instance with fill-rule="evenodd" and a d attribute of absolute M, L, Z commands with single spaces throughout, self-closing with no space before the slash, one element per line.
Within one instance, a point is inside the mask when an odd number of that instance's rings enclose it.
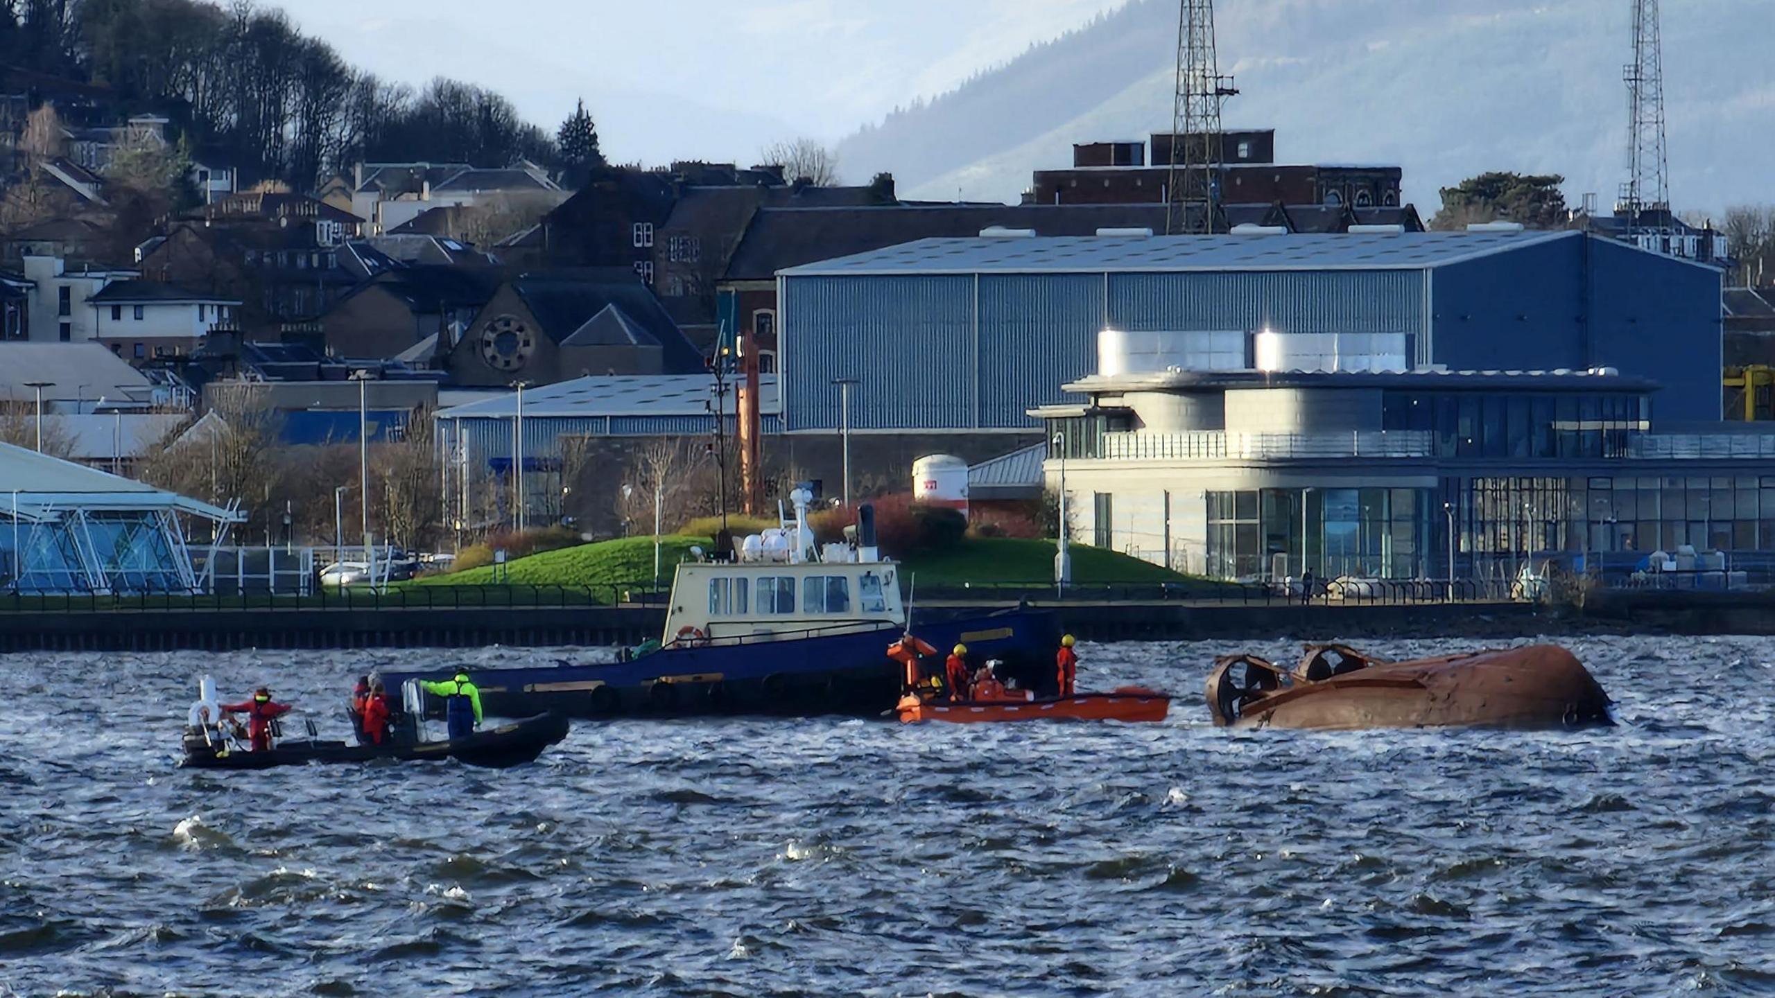
<path fill-rule="evenodd" d="M 234 329 L 240 307 L 234 298 L 142 279 L 114 281 L 87 302 L 98 343 L 131 362 L 197 353 L 211 330 Z"/>

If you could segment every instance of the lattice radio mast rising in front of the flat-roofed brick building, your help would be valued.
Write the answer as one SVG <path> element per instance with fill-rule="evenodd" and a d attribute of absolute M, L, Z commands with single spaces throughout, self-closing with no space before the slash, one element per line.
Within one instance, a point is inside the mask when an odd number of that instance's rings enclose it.
<path fill-rule="evenodd" d="M 1221 101 L 1237 94 L 1219 75 L 1214 51 L 1214 0 L 1182 0 L 1177 14 L 1177 101 L 1172 105 L 1172 172 L 1164 231 L 1212 233 L 1225 172 Z M 1202 206 L 1193 217 L 1191 206 Z"/>

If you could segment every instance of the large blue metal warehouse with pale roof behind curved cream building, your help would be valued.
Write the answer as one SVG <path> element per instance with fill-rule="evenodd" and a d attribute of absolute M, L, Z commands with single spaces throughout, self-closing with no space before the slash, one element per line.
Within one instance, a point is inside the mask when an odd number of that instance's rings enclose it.
<path fill-rule="evenodd" d="M 783 424 L 1022 432 L 1097 334 L 1404 334 L 1415 368 L 1615 368 L 1720 417 L 1720 273 L 1583 233 L 919 240 L 779 275 Z"/>

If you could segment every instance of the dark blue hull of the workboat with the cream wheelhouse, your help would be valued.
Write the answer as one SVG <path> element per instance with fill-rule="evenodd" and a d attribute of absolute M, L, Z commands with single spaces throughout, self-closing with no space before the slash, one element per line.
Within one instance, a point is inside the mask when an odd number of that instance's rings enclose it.
<path fill-rule="evenodd" d="M 1049 611 L 1014 609 L 987 616 L 925 620 L 918 636 L 939 650 L 967 645 L 969 659 L 999 659 L 1026 689 L 1054 689 L 1060 623 Z M 783 714 L 879 716 L 900 698 L 902 666 L 888 657 L 898 625 L 811 634 L 793 639 L 669 645 L 627 662 L 469 669 L 490 714 L 543 710 L 570 717 Z M 943 661 L 927 661 L 941 669 Z M 446 678 L 454 669 L 382 673 L 396 689 L 412 678 Z M 442 701 L 426 694 L 426 712 Z"/>

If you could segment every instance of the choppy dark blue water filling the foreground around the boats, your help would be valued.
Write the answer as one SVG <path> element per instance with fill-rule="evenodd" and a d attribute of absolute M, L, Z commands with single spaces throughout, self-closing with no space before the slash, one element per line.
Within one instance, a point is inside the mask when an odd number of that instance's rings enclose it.
<path fill-rule="evenodd" d="M 1230 645 L 1109 645 L 1086 684 L 1179 691 L 1170 723 L 263 774 L 174 769 L 193 677 L 330 707 L 350 659 L 5 657 L 0 996 L 1775 991 L 1775 645 L 1573 646 L 1621 728 L 1227 733 Z"/>

